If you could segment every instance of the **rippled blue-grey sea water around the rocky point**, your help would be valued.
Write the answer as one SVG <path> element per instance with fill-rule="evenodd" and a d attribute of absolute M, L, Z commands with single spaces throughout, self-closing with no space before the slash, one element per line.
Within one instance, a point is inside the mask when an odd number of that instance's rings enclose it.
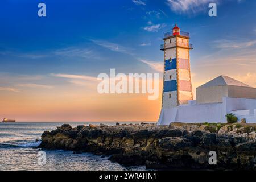
<path fill-rule="evenodd" d="M 0 123 L 0 170 L 144 170 L 144 166 L 122 166 L 108 158 L 89 153 L 73 154 L 72 151 L 44 150 L 46 165 L 38 164 L 40 137 L 44 130 L 69 123 L 77 125 L 96 122 L 16 122 Z M 115 125 L 115 122 L 101 122 Z M 122 122 L 121 122 L 122 123 Z M 36 139 L 39 142 L 36 142 Z"/>

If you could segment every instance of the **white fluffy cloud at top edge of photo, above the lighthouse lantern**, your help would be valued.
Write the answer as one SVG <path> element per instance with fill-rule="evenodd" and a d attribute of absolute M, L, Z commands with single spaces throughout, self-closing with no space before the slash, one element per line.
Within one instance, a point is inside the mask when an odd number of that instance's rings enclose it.
<path fill-rule="evenodd" d="M 198 13 L 208 9 L 211 2 L 213 0 L 167 0 L 167 5 L 176 13 Z"/>

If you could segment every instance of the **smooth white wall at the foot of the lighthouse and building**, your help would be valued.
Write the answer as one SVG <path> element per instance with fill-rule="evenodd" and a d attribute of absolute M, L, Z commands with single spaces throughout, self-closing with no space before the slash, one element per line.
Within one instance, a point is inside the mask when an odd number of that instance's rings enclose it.
<path fill-rule="evenodd" d="M 236 108 L 236 109 L 234 109 Z M 158 125 L 169 125 L 171 122 L 226 123 L 226 114 L 233 113 L 247 123 L 256 123 L 256 99 L 222 97 L 222 102 L 197 104 L 196 100 L 171 109 L 162 109 Z"/>

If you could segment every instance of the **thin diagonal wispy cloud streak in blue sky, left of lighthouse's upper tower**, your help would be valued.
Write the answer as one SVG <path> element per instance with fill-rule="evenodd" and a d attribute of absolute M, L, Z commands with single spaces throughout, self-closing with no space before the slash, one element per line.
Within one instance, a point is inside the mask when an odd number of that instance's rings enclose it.
<path fill-rule="evenodd" d="M 119 44 L 108 42 L 105 40 L 95 40 L 95 39 L 90 39 L 94 44 L 97 44 L 98 46 L 104 47 L 109 49 L 110 51 L 114 52 L 121 52 L 121 53 L 126 53 L 129 55 L 133 55 L 130 49 L 123 47 Z"/>

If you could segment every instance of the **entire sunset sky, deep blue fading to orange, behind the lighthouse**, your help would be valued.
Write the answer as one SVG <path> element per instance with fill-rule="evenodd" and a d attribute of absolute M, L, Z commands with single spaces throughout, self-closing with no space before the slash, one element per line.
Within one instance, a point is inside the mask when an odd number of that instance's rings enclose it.
<path fill-rule="evenodd" d="M 38 4 L 46 4 L 46 17 Z M 217 17 L 208 15 L 210 2 Z M 195 88 L 219 75 L 256 87 L 256 1 L 2 0 L 0 117 L 18 121 L 157 121 L 163 33 L 190 33 Z M 159 97 L 100 94 L 100 73 L 159 73 Z"/>

